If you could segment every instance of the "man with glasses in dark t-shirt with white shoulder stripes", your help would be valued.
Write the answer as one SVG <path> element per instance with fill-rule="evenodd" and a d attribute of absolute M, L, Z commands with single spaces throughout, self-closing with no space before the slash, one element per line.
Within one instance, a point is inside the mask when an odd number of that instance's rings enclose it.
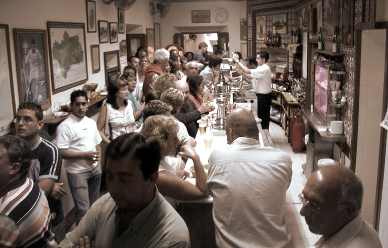
<path fill-rule="evenodd" d="M 45 195 L 51 212 L 51 231 L 55 241 L 60 243 L 66 234 L 61 198 L 67 194 L 59 183 L 62 168 L 62 156 L 58 147 L 39 137 L 43 127 L 42 108 L 31 102 L 23 102 L 13 119 L 16 135 L 28 142 L 32 149 L 31 166 L 28 177 L 37 183 Z"/>

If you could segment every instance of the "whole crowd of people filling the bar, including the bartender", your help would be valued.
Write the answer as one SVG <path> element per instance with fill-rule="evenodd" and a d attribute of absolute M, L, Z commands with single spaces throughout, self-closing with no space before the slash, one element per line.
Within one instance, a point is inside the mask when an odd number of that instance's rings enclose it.
<path fill-rule="evenodd" d="M 40 136 L 43 111 L 23 102 L 13 119 L 16 135 L 0 137 L 0 247 L 190 247 L 176 200 L 211 195 L 218 247 L 290 247 L 285 223 L 290 156 L 259 142 L 252 112 L 236 108 L 226 118 L 227 148 L 215 148 L 208 174 L 195 150 L 197 121 L 214 110 L 220 56 L 206 43 L 184 57 L 159 49 L 154 60 L 139 47 L 108 85 L 97 123 L 87 117 L 88 95 L 75 90 L 71 115 L 56 140 Z M 268 105 L 268 53 L 243 60 L 238 72 L 253 81 L 263 128 Z M 268 122 L 267 122 L 268 121 Z M 66 233 L 61 183 L 66 171 L 76 214 Z M 191 159 L 195 184 L 185 179 Z M 106 174 L 108 192 L 100 193 Z M 309 230 L 322 235 L 316 247 L 381 247 L 376 231 L 360 216 L 363 186 L 348 169 L 314 172 L 299 195 Z"/>

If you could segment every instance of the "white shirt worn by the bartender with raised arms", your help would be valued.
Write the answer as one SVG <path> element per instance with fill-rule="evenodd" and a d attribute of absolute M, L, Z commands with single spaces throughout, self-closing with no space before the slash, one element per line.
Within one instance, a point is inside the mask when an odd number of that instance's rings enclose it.
<path fill-rule="evenodd" d="M 271 93 L 271 68 L 267 63 L 262 66 L 257 66 L 256 69 L 251 69 L 253 79 L 256 79 L 253 90 L 259 94 Z"/>

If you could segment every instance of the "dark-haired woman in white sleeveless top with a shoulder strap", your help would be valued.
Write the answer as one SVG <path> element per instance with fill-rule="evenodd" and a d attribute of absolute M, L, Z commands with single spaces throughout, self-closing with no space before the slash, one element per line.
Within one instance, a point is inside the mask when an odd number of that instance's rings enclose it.
<path fill-rule="evenodd" d="M 128 103 L 128 82 L 118 79 L 108 85 L 106 104 L 102 106 L 97 128 L 104 143 L 117 136 L 136 130 L 133 103 Z M 108 123 L 108 126 L 106 124 Z M 109 129 L 109 134 L 106 128 Z"/>

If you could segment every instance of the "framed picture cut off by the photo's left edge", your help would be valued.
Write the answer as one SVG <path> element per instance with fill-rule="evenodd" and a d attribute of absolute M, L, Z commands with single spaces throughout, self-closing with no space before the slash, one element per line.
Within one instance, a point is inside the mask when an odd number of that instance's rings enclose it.
<path fill-rule="evenodd" d="M 15 97 L 13 91 L 13 76 L 11 66 L 11 50 L 9 47 L 8 25 L 0 24 L 0 135 L 11 132 L 13 117 L 16 115 Z"/>

